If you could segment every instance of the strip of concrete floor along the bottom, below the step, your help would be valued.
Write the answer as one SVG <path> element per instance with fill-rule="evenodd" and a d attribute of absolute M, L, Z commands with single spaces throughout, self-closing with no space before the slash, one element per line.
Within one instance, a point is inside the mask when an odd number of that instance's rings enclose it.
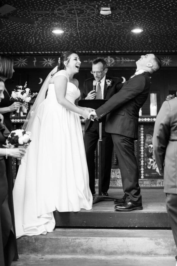
<path fill-rule="evenodd" d="M 12 266 L 175 266 L 174 257 L 20 255 Z"/>

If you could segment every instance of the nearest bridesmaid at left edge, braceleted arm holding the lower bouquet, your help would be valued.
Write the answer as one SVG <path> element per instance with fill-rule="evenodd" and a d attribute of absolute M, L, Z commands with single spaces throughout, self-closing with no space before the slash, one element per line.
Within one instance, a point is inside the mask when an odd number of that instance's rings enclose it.
<path fill-rule="evenodd" d="M 0 102 L 4 98 L 4 82 L 0 79 Z M 4 117 L 0 114 L 0 265 L 9 266 L 12 260 L 17 260 L 17 244 L 14 232 L 14 224 L 11 216 L 13 206 L 8 202 L 8 183 L 6 177 L 6 165 L 4 156 L 12 156 L 21 159 L 25 150 L 23 147 L 7 149 L 3 147 L 9 130 L 2 123 Z M 11 211 L 10 211 L 11 210 Z"/>

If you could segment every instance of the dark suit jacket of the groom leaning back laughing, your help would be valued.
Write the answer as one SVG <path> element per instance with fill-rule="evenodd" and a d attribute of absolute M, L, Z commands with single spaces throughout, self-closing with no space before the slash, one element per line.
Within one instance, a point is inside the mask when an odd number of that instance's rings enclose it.
<path fill-rule="evenodd" d="M 138 139 L 139 110 L 148 98 L 149 72 L 130 78 L 118 93 L 96 109 L 99 119 L 106 117 L 105 131 Z"/>

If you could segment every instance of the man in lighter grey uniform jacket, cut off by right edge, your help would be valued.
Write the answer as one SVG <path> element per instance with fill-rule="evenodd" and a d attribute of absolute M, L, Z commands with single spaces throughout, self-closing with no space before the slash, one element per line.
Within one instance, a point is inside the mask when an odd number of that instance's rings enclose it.
<path fill-rule="evenodd" d="M 159 172 L 164 175 L 166 207 L 177 247 L 177 98 L 174 96 L 167 98 L 156 117 L 153 150 Z"/>

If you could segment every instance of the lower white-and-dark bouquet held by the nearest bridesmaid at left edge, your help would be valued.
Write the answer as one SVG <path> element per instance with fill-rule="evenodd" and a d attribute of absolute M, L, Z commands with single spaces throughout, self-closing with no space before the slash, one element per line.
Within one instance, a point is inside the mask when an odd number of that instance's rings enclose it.
<path fill-rule="evenodd" d="M 18 148 L 19 146 L 23 146 L 24 148 L 27 148 L 30 145 L 31 142 L 31 132 L 25 131 L 24 129 L 16 129 L 11 131 L 9 134 L 6 145 L 4 147 L 6 148 Z M 21 160 L 17 160 L 18 165 L 21 164 Z"/>

